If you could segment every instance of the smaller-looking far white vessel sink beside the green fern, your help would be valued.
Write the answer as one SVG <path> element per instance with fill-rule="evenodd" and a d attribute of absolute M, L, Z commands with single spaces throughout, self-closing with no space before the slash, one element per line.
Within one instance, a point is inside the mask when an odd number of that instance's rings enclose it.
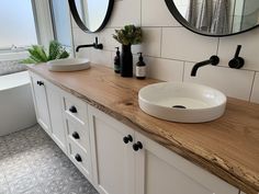
<path fill-rule="evenodd" d="M 50 71 L 79 71 L 90 68 L 90 61 L 83 58 L 66 58 L 47 62 Z"/>

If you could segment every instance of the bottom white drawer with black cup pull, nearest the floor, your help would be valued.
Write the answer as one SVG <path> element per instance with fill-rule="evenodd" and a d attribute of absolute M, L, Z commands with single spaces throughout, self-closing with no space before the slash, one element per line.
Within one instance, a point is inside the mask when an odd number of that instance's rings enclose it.
<path fill-rule="evenodd" d="M 68 155 L 70 160 L 82 172 L 82 174 L 86 175 L 89 180 L 91 180 L 90 175 L 91 166 L 87 152 L 80 149 L 71 140 L 68 140 Z"/>

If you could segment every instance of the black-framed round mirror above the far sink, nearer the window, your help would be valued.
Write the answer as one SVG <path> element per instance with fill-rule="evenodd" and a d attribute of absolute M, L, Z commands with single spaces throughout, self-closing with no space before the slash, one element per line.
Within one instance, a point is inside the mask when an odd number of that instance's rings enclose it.
<path fill-rule="evenodd" d="M 101 31 L 111 16 L 114 0 L 68 0 L 78 26 L 86 32 Z"/>

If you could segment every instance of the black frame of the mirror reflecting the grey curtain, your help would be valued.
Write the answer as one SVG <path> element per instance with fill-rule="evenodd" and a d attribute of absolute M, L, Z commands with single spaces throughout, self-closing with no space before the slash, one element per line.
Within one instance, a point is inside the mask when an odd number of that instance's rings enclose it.
<path fill-rule="evenodd" d="M 189 25 L 189 23 L 187 22 L 187 20 L 181 15 L 181 13 L 178 11 L 176 4 L 173 3 L 172 0 L 165 0 L 166 4 L 167 4 L 167 8 L 169 9 L 169 11 L 171 12 L 172 16 L 182 25 L 184 26 L 185 28 L 188 28 L 189 31 L 195 33 L 195 34 L 200 34 L 200 35 L 203 35 L 203 36 L 210 36 L 210 37 L 225 37 L 225 36 L 233 36 L 233 35 L 237 35 L 237 34 L 241 34 L 241 33 L 245 33 L 245 32 L 248 32 L 248 31 L 251 31 L 252 28 L 256 28 L 259 26 L 258 25 L 255 25 L 250 28 L 247 28 L 245 31 L 240 31 L 240 32 L 237 32 L 237 33 L 230 33 L 230 34 L 223 34 L 223 35 L 217 35 L 217 34 L 209 34 L 209 33 L 201 33 L 200 31 L 198 31 L 196 28 L 192 27 Z"/>

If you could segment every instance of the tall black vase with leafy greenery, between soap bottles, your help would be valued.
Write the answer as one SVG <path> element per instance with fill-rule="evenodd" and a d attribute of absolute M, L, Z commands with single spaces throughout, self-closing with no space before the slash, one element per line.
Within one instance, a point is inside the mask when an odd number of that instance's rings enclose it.
<path fill-rule="evenodd" d="M 122 44 L 121 76 L 133 77 L 132 45 L 142 43 L 142 28 L 135 25 L 125 25 L 121 30 L 115 30 L 113 38 Z"/>

